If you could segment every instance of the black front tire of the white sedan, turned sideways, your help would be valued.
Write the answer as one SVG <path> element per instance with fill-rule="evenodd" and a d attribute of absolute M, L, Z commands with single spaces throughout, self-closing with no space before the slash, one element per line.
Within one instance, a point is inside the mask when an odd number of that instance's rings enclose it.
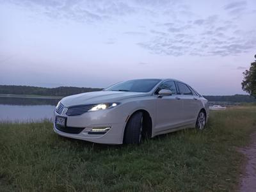
<path fill-rule="evenodd" d="M 141 134 L 143 127 L 143 113 L 136 112 L 134 113 L 127 125 L 124 132 L 124 143 L 126 144 L 140 144 Z"/>

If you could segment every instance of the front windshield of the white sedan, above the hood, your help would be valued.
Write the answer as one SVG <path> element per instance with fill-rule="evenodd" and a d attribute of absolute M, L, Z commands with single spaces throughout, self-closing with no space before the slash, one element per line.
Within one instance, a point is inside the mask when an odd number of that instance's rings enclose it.
<path fill-rule="evenodd" d="M 109 86 L 104 91 L 116 92 L 150 92 L 160 79 L 134 79 Z"/>

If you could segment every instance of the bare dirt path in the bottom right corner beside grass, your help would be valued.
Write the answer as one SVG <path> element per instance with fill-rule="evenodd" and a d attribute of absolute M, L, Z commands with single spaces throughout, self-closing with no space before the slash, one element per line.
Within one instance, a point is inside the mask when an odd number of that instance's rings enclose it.
<path fill-rule="evenodd" d="M 255 192 L 256 191 L 256 132 L 252 134 L 252 143 L 248 147 L 241 148 L 247 159 L 244 166 L 245 170 L 241 176 L 240 191 Z"/>

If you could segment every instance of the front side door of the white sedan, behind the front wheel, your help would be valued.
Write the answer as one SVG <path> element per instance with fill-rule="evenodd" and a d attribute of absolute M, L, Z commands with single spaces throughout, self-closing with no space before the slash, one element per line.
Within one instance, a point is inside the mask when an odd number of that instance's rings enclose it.
<path fill-rule="evenodd" d="M 160 90 L 171 90 L 172 95 L 158 97 Z M 164 81 L 159 85 L 156 92 L 156 132 L 166 131 L 179 127 L 183 121 L 182 100 L 177 95 L 177 89 L 174 81 Z"/>

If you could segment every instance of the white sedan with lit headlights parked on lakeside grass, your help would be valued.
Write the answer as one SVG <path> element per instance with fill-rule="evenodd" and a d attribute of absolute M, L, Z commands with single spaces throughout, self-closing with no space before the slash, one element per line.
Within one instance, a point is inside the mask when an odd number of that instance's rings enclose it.
<path fill-rule="evenodd" d="M 71 95 L 54 111 L 54 131 L 95 143 L 140 143 L 179 129 L 204 129 L 207 100 L 175 79 L 134 79 Z"/>

